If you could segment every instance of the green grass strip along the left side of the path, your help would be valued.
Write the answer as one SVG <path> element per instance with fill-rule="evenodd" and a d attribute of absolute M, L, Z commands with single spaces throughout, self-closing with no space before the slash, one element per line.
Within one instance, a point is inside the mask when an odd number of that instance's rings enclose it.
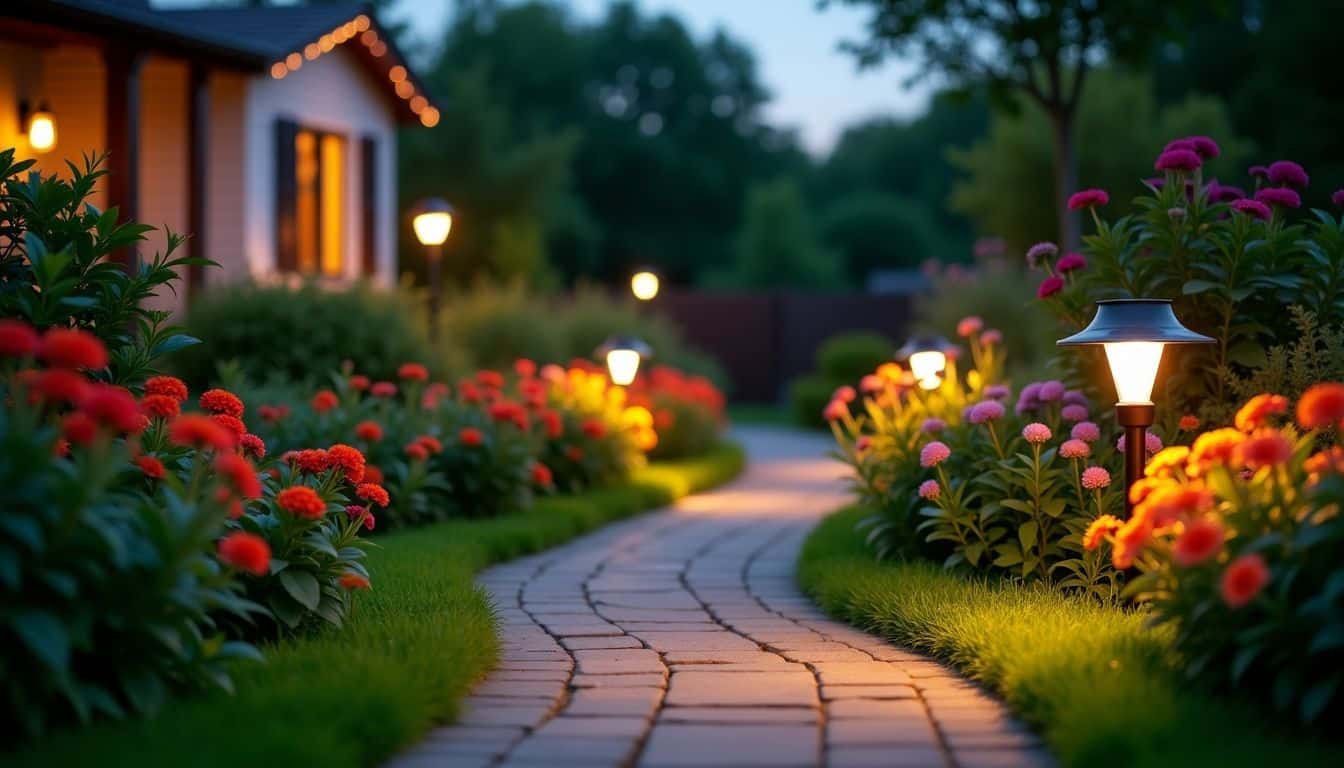
<path fill-rule="evenodd" d="M 173 702 L 151 721 L 50 734 L 5 765 L 375 765 L 449 722 L 497 655 L 493 617 L 472 576 L 603 523 L 724 483 L 739 447 L 655 464 L 629 484 L 543 499 L 527 511 L 398 531 L 376 541 L 374 590 L 341 631 L 267 648 L 234 697 Z"/>

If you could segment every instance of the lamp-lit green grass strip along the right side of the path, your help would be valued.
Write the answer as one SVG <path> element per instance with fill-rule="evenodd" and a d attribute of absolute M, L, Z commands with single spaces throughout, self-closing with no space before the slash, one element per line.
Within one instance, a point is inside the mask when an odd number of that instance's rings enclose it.
<path fill-rule="evenodd" d="M 802 589 L 825 611 L 997 691 L 1062 764 L 1344 765 L 1344 745 L 1271 726 L 1250 701 L 1181 679 L 1168 633 L 1145 628 L 1141 612 L 925 562 L 875 562 L 855 530 L 863 515 L 845 510 L 812 534 Z"/>

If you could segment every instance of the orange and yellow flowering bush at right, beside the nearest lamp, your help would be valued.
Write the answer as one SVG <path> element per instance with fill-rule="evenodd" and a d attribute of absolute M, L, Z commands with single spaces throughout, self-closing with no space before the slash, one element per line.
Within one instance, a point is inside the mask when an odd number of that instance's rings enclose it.
<path fill-rule="evenodd" d="M 1098 521 L 1089 543 L 1137 566 L 1126 593 L 1175 625 L 1189 677 L 1328 721 L 1344 706 L 1344 385 L 1302 395 L 1302 432 L 1286 412 L 1261 394 L 1236 428 L 1163 451 L 1130 518 Z"/>

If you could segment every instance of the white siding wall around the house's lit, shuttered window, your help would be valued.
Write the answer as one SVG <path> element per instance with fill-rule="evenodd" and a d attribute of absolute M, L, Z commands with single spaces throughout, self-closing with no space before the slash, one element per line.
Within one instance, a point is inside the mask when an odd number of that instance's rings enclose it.
<path fill-rule="evenodd" d="M 345 247 L 347 276 L 360 272 L 363 252 L 363 168 L 360 139 L 378 141 L 376 280 L 395 281 L 396 226 L 396 125 L 387 94 L 390 82 L 375 82 L 341 47 L 305 61 L 282 79 L 253 78 L 247 89 L 245 249 L 249 273 L 266 278 L 276 272 L 276 121 L 293 120 L 301 126 L 345 137 Z"/>

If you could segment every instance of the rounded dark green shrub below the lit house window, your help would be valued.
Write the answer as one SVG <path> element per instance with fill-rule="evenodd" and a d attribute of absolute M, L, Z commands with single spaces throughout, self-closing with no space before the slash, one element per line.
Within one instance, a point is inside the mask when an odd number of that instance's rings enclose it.
<path fill-rule="evenodd" d="M 418 313 L 409 295 L 358 285 L 328 291 L 241 284 L 195 300 L 187 327 L 204 343 L 173 360 L 188 383 L 215 377 L 218 363 L 237 360 L 254 381 L 312 382 L 359 360 L 372 377 L 391 378 L 407 360 L 431 362 Z"/>

